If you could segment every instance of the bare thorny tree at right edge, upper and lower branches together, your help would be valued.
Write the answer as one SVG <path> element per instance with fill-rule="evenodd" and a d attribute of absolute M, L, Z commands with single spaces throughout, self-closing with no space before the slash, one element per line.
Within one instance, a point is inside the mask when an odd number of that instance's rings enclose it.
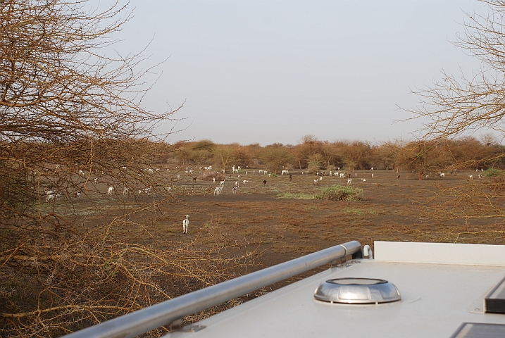
<path fill-rule="evenodd" d="M 421 132 L 424 139 L 449 145 L 461 134 L 492 130 L 501 141 L 505 136 L 505 1 L 482 0 L 487 14 L 467 16 L 464 32 L 455 44 L 481 63 L 480 71 L 471 77 L 457 78 L 442 73 L 443 79 L 432 87 L 416 92 L 420 107 L 412 110 L 416 118 L 425 122 Z M 478 156 L 478 154 L 474 154 Z M 503 151 L 494 153 L 487 161 L 498 161 Z M 468 167 L 478 165 L 478 158 L 464 158 Z M 437 196 L 445 198 L 432 216 L 446 220 L 490 220 L 503 223 L 503 177 L 484 184 L 471 181 L 459 187 L 443 190 Z"/>

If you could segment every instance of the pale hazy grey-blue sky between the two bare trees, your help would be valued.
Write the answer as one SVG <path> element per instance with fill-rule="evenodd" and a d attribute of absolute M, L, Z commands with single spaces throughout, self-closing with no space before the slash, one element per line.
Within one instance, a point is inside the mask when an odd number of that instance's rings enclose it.
<path fill-rule="evenodd" d="M 475 0 L 130 0 L 118 50 L 168 58 L 144 104 L 184 108 L 170 142 L 411 139 L 411 89 L 478 62 L 451 44 Z M 174 125 L 163 125 L 168 131 Z"/>

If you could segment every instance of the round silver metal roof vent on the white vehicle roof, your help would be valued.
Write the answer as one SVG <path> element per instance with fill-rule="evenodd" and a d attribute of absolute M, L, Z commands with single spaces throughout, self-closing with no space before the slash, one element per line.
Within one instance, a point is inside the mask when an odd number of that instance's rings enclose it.
<path fill-rule="evenodd" d="M 336 278 L 319 285 L 314 292 L 318 301 L 345 304 L 378 304 L 399 301 L 400 292 L 387 280 L 375 278 Z"/>

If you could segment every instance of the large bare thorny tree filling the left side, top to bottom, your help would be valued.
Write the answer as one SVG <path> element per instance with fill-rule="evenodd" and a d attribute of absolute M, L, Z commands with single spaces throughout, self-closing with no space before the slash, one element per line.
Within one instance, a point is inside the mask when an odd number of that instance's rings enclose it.
<path fill-rule="evenodd" d="M 86 0 L 0 1 L 2 337 L 68 333 L 175 296 L 170 283 L 223 280 L 237 263 L 194 243 L 131 238 L 149 232 L 135 213 L 149 215 L 168 196 L 158 182 L 170 177 L 146 169 L 166 148 L 154 128 L 175 111 L 142 108 L 151 72 L 140 69 L 142 52 L 106 54 L 129 19 L 118 3 L 92 10 Z M 113 215 L 102 207 L 108 186 L 116 187 Z M 152 203 L 123 201 L 123 187 L 150 187 Z M 104 216 L 90 224 L 87 213 Z"/>

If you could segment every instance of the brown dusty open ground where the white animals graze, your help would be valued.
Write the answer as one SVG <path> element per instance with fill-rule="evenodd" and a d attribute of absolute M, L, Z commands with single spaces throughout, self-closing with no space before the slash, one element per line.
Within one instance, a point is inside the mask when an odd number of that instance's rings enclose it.
<path fill-rule="evenodd" d="M 371 177 L 371 174 L 374 177 Z M 196 196 L 185 196 L 177 204 L 162 209 L 158 218 L 158 233 L 171 241 L 186 242 L 204 236 L 211 227 L 223 239 L 243 240 L 250 248 L 261 251 L 258 257 L 263 266 L 281 263 L 329 246 L 357 240 L 373 246 L 373 241 L 415 242 L 474 242 L 505 244 L 503 227 L 497 219 L 461 223 L 437 222 L 423 213 L 425 204 L 440 188 L 466 183 L 474 175 L 473 183 L 480 184 L 475 172 L 430 177 L 419 181 L 413 173 L 383 170 L 358 171 L 352 175 L 352 185 L 363 189 L 365 201 L 322 201 L 277 199 L 280 192 L 316 193 L 323 186 L 347 184 L 347 178 L 323 177 L 314 186 L 316 175 L 288 175 L 267 177 L 241 173 L 227 174 L 223 194 L 213 195 L 213 182 L 184 180 L 175 188 L 188 189 Z M 328 174 L 327 174 L 328 175 Z M 400 175 L 397 180 L 397 175 Z M 363 179 L 366 182 L 363 182 Z M 239 181 L 238 194 L 231 190 Z M 243 183 L 243 180 L 249 182 Z M 262 182 L 267 181 L 264 187 Z M 430 202 L 428 206 L 440 201 Z M 189 234 L 182 234 L 182 219 L 189 214 Z"/>

